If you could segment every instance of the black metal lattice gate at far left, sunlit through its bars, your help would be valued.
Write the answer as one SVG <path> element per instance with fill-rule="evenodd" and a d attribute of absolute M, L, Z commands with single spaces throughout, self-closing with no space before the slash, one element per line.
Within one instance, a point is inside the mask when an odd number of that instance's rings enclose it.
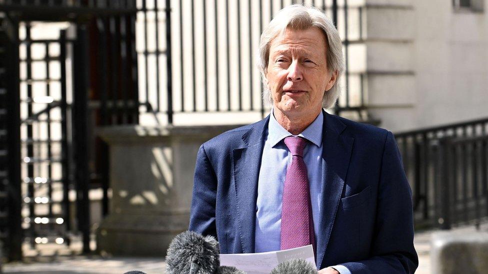
<path fill-rule="evenodd" d="M 25 58 L 20 59 L 20 65 L 25 67 L 25 77 L 20 78 L 21 177 L 22 210 L 27 212 L 22 223 L 24 237 L 32 247 L 69 245 L 72 178 L 68 176 L 67 121 L 71 110 L 66 98 L 66 49 L 71 41 L 66 39 L 65 30 L 57 39 L 32 39 L 31 23 L 26 21 L 22 27 L 25 37 L 20 47 Z M 33 47 L 43 50 L 44 56 L 32 57 Z M 59 50 L 52 54 L 52 48 Z M 58 77 L 53 77 L 54 73 Z M 59 92 L 53 92 L 54 85 Z"/>

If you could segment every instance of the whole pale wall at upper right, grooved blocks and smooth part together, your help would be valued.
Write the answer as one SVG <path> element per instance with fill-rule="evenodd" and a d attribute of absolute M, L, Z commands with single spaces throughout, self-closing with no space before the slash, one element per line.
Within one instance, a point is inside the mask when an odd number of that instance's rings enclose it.
<path fill-rule="evenodd" d="M 484 2 L 483 2 L 484 1 Z M 479 0 L 488 7 L 487 0 Z M 367 0 L 370 114 L 392 131 L 488 117 L 488 12 Z"/>

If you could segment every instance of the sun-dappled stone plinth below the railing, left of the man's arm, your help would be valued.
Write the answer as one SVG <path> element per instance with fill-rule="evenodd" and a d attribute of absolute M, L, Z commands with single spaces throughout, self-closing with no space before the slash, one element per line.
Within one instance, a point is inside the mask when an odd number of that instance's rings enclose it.
<path fill-rule="evenodd" d="M 175 235 L 188 229 L 199 146 L 236 126 L 111 127 L 111 199 L 96 232 L 101 254 L 163 257 Z"/>

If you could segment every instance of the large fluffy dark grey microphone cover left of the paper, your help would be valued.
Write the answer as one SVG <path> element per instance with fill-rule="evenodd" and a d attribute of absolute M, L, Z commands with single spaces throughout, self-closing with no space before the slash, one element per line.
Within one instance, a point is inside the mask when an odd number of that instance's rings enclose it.
<path fill-rule="evenodd" d="M 212 236 L 185 231 L 174 237 L 166 254 L 167 274 L 213 274 L 220 265 L 220 247 Z"/>

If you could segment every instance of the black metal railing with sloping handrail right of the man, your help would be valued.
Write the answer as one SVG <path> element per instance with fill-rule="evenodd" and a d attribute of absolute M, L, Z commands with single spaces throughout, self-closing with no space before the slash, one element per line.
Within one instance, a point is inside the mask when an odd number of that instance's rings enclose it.
<path fill-rule="evenodd" d="M 418 227 L 487 217 L 488 119 L 395 134 Z M 448 208 L 446 208 L 448 206 Z"/>

